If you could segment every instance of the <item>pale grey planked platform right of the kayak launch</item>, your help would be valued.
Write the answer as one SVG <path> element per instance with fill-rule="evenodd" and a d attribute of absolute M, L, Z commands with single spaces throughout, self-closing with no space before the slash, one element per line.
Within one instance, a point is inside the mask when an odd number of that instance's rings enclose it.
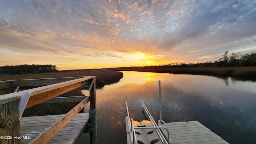
<path fill-rule="evenodd" d="M 163 123 L 158 125 L 168 128 L 171 144 L 228 144 L 198 121 Z M 167 136 L 166 130 L 162 132 Z"/>

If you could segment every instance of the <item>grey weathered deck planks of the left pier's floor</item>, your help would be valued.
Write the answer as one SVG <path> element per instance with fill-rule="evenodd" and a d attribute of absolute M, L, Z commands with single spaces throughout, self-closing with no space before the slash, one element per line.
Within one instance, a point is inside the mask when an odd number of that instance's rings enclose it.
<path fill-rule="evenodd" d="M 64 115 L 51 116 L 30 116 L 22 117 L 20 120 L 21 136 L 30 136 L 31 139 L 22 139 L 22 144 L 31 142 L 42 132 L 47 130 L 52 124 L 62 118 Z M 88 124 L 89 114 L 79 113 L 64 126 L 48 144 L 73 144 L 77 141 L 80 134 L 83 133 L 85 126 Z"/>

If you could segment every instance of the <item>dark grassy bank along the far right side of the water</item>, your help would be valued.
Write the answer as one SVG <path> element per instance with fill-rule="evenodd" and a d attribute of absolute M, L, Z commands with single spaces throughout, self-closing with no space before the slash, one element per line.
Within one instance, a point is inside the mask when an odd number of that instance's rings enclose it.
<path fill-rule="evenodd" d="M 162 72 L 172 74 L 202 74 L 211 76 L 231 76 L 239 78 L 256 79 L 256 66 L 250 67 L 192 67 L 192 68 L 166 68 L 162 66 L 145 66 L 130 68 L 114 68 L 113 70 Z"/>

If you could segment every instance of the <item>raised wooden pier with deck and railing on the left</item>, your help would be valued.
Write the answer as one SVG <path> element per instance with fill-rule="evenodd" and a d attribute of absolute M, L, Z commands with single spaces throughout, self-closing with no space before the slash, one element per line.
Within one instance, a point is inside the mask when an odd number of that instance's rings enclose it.
<path fill-rule="evenodd" d="M 96 144 L 95 78 L 85 76 L 0 81 L 0 89 L 16 88 L 13 93 L 0 96 L 0 144 L 74 144 L 84 132 L 90 132 L 90 143 Z M 40 87 L 17 92 L 20 86 Z M 57 97 L 81 86 L 89 87 L 89 96 Z M 25 108 L 40 103 L 80 103 L 66 114 L 19 118 L 19 104 L 24 92 L 31 93 Z M 80 113 L 89 102 L 89 113 L 84 113 L 85 110 Z"/>

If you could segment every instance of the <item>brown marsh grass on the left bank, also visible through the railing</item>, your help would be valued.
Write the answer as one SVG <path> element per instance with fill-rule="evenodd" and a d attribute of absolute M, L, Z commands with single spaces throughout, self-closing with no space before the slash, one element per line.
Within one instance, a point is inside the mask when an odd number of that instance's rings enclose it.
<path fill-rule="evenodd" d="M 104 71 L 104 70 L 68 70 L 63 72 L 38 73 L 38 74 L 16 74 L 16 75 L 1 75 L 0 81 L 3 80 L 20 80 L 34 78 L 61 78 L 74 76 L 96 76 L 96 88 L 101 88 L 106 84 L 118 82 L 122 77 L 122 72 Z M 31 87 L 20 87 L 18 91 L 27 90 Z M 12 93 L 15 88 L 0 89 L 0 95 Z M 84 96 L 82 88 L 76 88 L 66 92 L 58 97 L 63 96 Z M 42 116 L 54 114 L 66 114 L 74 108 L 79 102 L 54 103 L 54 104 L 37 104 L 24 110 L 22 116 Z M 82 110 L 81 110 L 82 111 Z"/>

